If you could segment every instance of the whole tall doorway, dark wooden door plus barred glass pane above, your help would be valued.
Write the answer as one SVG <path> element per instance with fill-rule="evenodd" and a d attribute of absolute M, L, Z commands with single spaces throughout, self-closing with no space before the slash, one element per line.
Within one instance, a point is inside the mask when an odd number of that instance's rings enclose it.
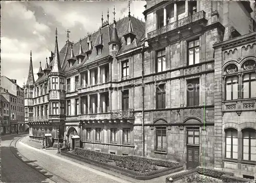
<path fill-rule="evenodd" d="M 187 170 L 199 166 L 199 127 L 187 128 Z"/>

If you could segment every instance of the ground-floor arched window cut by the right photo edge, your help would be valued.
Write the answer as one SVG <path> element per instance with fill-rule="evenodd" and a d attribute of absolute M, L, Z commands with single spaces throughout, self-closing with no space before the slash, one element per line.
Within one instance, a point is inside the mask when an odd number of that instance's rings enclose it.
<path fill-rule="evenodd" d="M 246 128 L 243 133 L 243 160 L 256 160 L 256 130 Z"/>

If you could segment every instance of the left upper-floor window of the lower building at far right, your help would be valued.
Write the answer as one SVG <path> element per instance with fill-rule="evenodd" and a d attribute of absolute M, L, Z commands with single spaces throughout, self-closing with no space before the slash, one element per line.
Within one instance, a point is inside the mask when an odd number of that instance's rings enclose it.
<path fill-rule="evenodd" d="M 238 99 L 238 77 L 226 79 L 226 100 Z"/>

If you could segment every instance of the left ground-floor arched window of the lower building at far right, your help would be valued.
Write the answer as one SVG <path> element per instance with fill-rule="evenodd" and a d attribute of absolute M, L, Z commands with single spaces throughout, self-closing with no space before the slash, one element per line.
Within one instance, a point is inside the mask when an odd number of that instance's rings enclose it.
<path fill-rule="evenodd" d="M 238 159 L 238 131 L 226 130 L 226 158 Z"/>

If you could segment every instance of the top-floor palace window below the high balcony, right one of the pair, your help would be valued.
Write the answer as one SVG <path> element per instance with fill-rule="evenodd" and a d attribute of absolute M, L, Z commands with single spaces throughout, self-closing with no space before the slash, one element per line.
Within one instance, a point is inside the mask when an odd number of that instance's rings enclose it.
<path fill-rule="evenodd" d="M 199 63 L 199 39 L 188 42 L 188 65 L 194 65 Z"/>

